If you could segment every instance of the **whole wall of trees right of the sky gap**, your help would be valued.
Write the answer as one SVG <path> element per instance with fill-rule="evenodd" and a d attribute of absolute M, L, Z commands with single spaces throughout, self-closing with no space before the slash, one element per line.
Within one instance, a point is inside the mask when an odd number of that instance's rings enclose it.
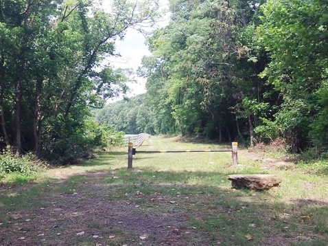
<path fill-rule="evenodd" d="M 323 153 L 327 10 L 323 0 L 170 0 L 169 25 L 148 38 L 139 68 L 148 81 L 138 110 L 154 133 Z"/>

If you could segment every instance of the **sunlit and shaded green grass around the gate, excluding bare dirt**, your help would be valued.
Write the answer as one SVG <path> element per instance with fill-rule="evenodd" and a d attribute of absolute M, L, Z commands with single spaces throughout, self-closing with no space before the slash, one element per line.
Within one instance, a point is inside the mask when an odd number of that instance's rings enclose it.
<path fill-rule="evenodd" d="M 137 150 L 218 148 L 230 146 L 180 143 L 172 138 L 152 137 Z M 130 214 L 132 218 L 148 217 L 150 221 L 165 216 L 177 221 L 183 218 L 185 230 L 190 233 L 180 236 L 185 245 L 273 245 L 270 241 L 274 240 L 277 245 L 327 245 L 325 167 L 319 165 L 318 172 L 315 165 L 305 164 L 263 169 L 263 158 L 282 155 L 241 148 L 238 152 L 240 165 L 233 167 L 231 153 L 137 153 L 133 157 L 133 170 L 127 170 L 127 147 L 115 148 L 113 152 L 100 153 L 98 159 L 82 166 L 49 170 L 38 176 L 37 184 L 25 183 L 18 186 L 21 188 L 1 191 L 0 212 L 23 213 L 40 207 L 52 208 L 51 202 L 58 199 L 64 199 L 75 210 L 84 203 L 95 202 L 95 205 L 121 208 L 123 214 Z M 88 175 L 97 172 L 102 175 Z M 231 174 L 255 173 L 277 174 L 283 182 L 278 188 L 256 192 L 234 190 L 227 179 Z M 96 209 L 95 205 L 91 204 L 92 208 Z M 10 216 L 0 218 L 2 227 L 8 230 L 13 226 L 8 223 Z M 143 243 L 137 231 L 119 224 L 108 225 L 110 220 L 90 218 L 83 230 L 89 235 L 95 231 L 107 235 L 102 239 L 104 245 Z M 66 223 L 63 224 L 66 229 L 60 229 L 63 234 L 67 228 L 82 226 Z M 115 238 L 108 239 L 108 235 L 115 235 Z M 52 239 L 55 243 L 58 240 L 56 236 Z M 73 236 L 69 242 L 95 245 L 95 240 L 90 236 Z M 150 235 L 148 243 L 154 241 L 156 245 L 157 240 Z"/>

